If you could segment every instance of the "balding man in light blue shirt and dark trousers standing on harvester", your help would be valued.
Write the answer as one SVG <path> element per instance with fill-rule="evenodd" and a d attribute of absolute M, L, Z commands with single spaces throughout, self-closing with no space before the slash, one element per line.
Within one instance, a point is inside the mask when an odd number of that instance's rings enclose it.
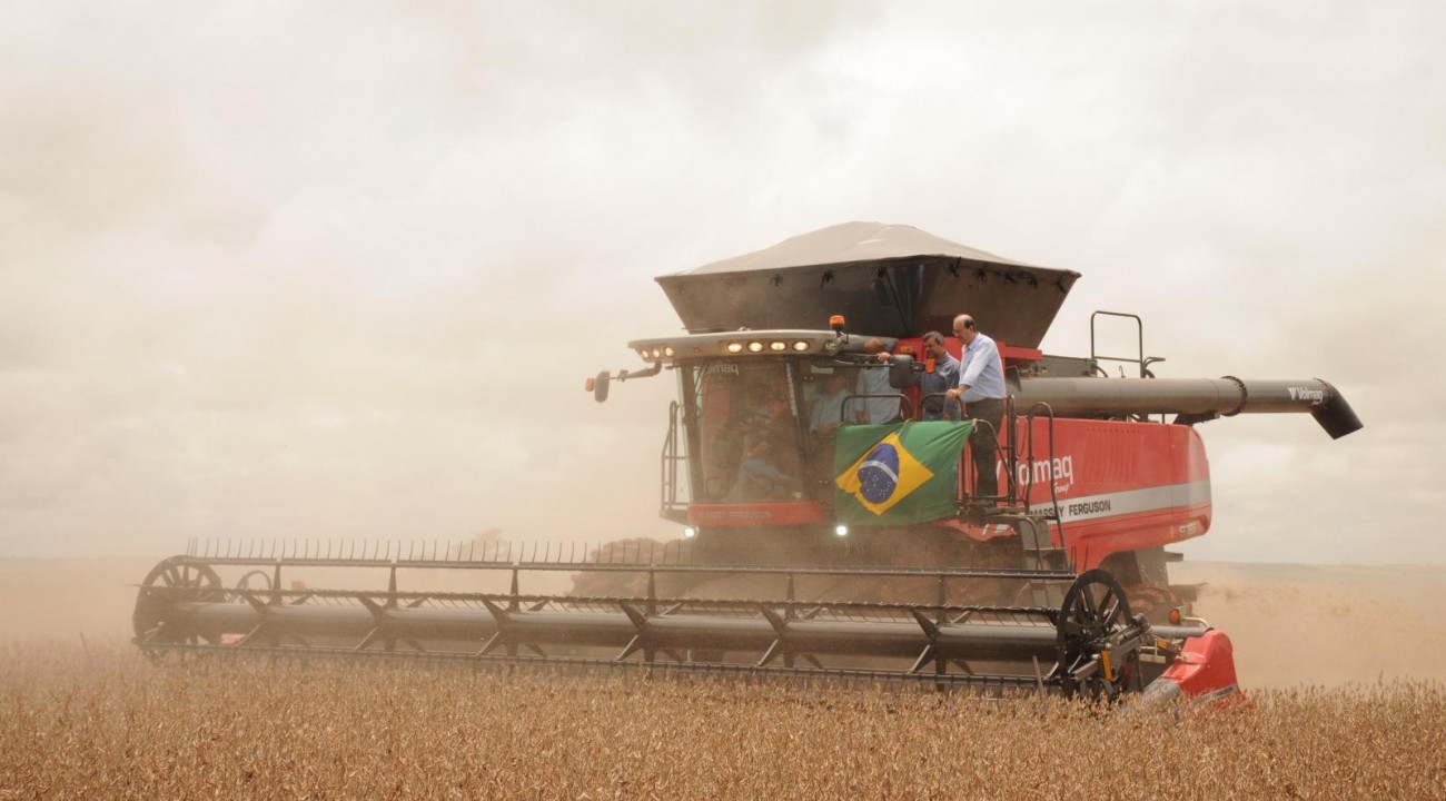
<path fill-rule="evenodd" d="M 999 346 L 979 333 L 975 318 L 962 314 L 954 318 L 954 335 L 964 344 L 959 360 L 959 386 L 949 390 L 949 400 L 963 400 L 964 415 L 975 419 L 969 450 L 975 461 L 975 494 L 999 494 L 995 476 L 995 451 L 999 448 L 999 427 L 1004 422 L 1004 363 Z"/>

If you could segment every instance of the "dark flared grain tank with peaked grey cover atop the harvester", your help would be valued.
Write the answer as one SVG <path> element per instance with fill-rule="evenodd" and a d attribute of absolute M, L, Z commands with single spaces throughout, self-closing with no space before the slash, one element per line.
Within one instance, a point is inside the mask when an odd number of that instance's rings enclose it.
<path fill-rule="evenodd" d="M 843 314 L 856 331 L 917 337 L 967 311 L 996 340 L 1038 347 L 1077 278 L 912 226 L 843 223 L 658 283 L 691 333 L 817 328 Z"/>

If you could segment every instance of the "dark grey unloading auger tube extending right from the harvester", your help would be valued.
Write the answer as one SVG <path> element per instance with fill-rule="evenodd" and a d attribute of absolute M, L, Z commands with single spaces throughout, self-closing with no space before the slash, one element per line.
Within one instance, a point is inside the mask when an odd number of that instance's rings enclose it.
<path fill-rule="evenodd" d="M 1309 412 L 1339 440 L 1362 428 L 1351 403 L 1320 379 L 1025 379 L 1011 386 L 1018 408 L 1048 403 L 1056 415 L 1180 415 L 1202 422 L 1241 414 Z"/>

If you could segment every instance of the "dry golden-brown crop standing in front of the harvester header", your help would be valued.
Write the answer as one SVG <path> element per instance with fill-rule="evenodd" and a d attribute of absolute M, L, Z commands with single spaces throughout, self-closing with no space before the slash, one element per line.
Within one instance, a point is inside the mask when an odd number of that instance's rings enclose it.
<path fill-rule="evenodd" d="M 0 646 L 0 798 L 1442 798 L 1446 687 L 957 694 Z"/>

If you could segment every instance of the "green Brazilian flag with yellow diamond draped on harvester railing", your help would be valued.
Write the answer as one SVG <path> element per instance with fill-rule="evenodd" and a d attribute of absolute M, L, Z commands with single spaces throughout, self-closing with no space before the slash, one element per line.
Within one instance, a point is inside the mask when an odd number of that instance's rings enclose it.
<path fill-rule="evenodd" d="M 973 421 L 843 425 L 833 444 L 834 516 L 897 526 L 959 512 L 959 453 Z"/>

